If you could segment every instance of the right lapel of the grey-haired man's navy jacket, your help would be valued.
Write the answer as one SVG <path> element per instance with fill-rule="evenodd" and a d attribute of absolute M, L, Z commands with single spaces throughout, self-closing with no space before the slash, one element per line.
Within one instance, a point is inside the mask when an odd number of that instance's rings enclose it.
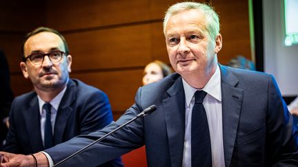
<path fill-rule="evenodd" d="M 236 87 L 239 80 L 226 67 L 219 66 L 221 67 L 224 157 L 226 166 L 230 166 L 244 92 Z"/>

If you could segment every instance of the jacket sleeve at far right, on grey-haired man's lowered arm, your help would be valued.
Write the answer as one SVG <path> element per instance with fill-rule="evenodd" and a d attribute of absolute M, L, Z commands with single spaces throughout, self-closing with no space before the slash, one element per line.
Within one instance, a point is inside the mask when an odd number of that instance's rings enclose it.
<path fill-rule="evenodd" d="M 298 166 L 297 127 L 272 76 L 268 87 L 266 143 L 271 164 L 267 166 Z"/>

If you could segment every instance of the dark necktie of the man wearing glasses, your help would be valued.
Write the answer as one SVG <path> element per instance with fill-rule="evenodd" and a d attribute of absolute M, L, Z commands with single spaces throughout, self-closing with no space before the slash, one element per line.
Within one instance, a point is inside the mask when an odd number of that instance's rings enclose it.
<path fill-rule="evenodd" d="M 52 123 L 51 123 L 51 105 L 50 103 L 43 104 L 43 109 L 46 110 L 46 124 L 44 129 L 44 148 L 53 146 Z"/>

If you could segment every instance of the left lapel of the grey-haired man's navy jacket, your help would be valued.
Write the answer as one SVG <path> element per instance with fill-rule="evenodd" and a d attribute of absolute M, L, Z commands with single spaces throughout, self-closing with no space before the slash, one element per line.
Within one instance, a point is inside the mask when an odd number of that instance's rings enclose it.
<path fill-rule="evenodd" d="M 163 100 L 166 129 L 172 166 L 181 166 L 185 133 L 185 94 L 179 77 L 167 91 L 169 98 Z"/>

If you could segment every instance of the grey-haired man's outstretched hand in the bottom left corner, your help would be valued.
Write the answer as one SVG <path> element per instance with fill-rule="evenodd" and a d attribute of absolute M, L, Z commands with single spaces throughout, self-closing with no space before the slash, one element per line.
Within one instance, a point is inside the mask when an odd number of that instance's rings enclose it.
<path fill-rule="evenodd" d="M 35 166 L 34 159 L 32 155 L 21 155 L 21 154 L 12 154 L 6 152 L 0 152 L 4 155 L 3 162 L 0 164 L 1 167 L 6 166 Z"/>

